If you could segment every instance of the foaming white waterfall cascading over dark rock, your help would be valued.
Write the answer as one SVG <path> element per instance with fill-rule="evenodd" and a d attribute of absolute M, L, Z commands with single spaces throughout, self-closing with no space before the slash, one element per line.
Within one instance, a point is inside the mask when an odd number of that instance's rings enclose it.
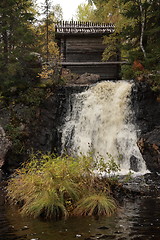
<path fill-rule="evenodd" d="M 107 161 L 111 154 L 126 174 L 136 162 L 136 172 L 146 166 L 137 147 L 137 131 L 130 107 L 132 83 L 105 81 L 74 94 L 62 131 L 62 148 L 72 154 L 94 152 Z M 131 163 L 132 162 L 132 163 Z M 133 169 L 134 170 L 134 169 Z"/>

